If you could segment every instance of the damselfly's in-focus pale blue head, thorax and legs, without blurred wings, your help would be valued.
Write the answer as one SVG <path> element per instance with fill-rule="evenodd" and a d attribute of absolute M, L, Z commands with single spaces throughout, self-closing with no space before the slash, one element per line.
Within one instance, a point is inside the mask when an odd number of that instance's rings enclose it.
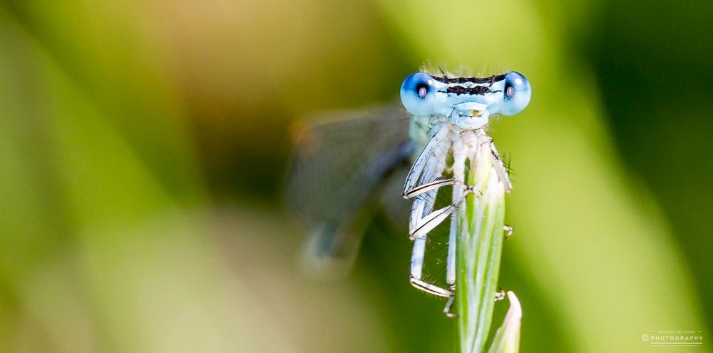
<path fill-rule="evenodd" d="M 512 116 L 520 113 L 532 95 L 530 83 L 517 72 L 489 78 L 430 76 L 414 73 L 401 85 L 401 102 L 409 113 L 409 135 L 421 148 L 404 182 L 402 195 L 413 199 L 409 238 L 414 240 L 411 252 L 411 285 L 433 295 L 447 297 L 444 312 L 451 313 L 456 291 L 456 210 L 468 193 L 477 193 L 466 185 L 466 160 L 478 163 L 489 155 L 493 171 L 504 192 L 512 189 L 508 173 L 493 140 L 486 133 L 493 114 Z M 486 153 L 480 151 L 486 148 Z M 452 162 L 446 165 L 448 156 Z M 446 175 L 450 175 L 446 177 Z M 443 186 L 452 187 L 451 204 L 434 209 L 436 195 Z M 424 255 L 429 232 L 450 218 L 446 285 L 426 282 Z M 506 230 L 510 232 L 512 228 Z"/>

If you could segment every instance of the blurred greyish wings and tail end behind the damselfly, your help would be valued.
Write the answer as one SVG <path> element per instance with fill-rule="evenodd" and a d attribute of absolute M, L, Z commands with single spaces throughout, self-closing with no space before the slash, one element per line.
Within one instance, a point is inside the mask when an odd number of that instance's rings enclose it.
<path fill-rule="evenodd" d="M 400 105 L 329 116 L 299 129 L 287 185 L 290 210 L 311 227 L 307 270 L 322 277 L 349 270 L 384 180 L 414 151 Z"/>

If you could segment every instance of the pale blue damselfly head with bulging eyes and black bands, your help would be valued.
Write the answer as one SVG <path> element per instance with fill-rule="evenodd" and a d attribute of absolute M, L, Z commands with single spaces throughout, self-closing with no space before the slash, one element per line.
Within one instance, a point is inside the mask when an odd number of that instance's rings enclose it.
<path fill-rule="evenodd" d="M 532 95 L 515 71 L 490 77 L 450 77 L 418 72 L 401 84 L 401 103 L 414 116 L 444 116 L 463 129 L 482 128 L 493 114 L 513 116 Z"/>

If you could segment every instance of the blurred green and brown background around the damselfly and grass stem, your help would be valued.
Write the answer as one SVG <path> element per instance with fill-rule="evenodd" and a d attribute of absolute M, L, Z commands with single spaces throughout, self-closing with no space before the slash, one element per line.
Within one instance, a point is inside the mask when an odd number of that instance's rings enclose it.
<path fill-rule="evenodd" d="M 524 73 L 493 121 L 523 352 L 713 327 L 713 2 L 2 1 L 0 352 L 453 352 L 377 217 L 297 270 L 290 126 L 424 63 Z M 489 74 L 490 72 L 486 73 Z M 506 304 L 498 307 L 501 320 Z"/>

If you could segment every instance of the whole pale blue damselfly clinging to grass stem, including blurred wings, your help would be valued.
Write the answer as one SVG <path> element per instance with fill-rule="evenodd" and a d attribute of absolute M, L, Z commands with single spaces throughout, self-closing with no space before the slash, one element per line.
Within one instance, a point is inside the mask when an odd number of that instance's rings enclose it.
<path fill-rule="evenodd" d="M 483 78 L 419 72 L 401 85 L 406 111 L 389 106 L 349 113 L 349 118 L 304 129 L 297 140 L 288 199 L 292 210 L 312 223 L 305 252 L 310 270 L 348 270 L 364 219 L 381 204 L 392 214 L 410 214 L 411 284 L 448 297 L 448 308 L 456 283 L 454 215 L 466 195 L 479 192 L 466 185 L 466 168 L 473 168 L 483 155 L 478 152 L 487 148 L 506 192 L 512 189 L 486 131 L 491 116 L 519 113 L 530 94 L 530 83 L 514 71 Z M 408 173 L 400 174 L 408 165 Z M 450 200 L 436 208 L 438 191 L 446 187 L 452 189 Z M 410 210 L 394 196 L 412 199 Z M 446 280 L 439 286 L 423 278 L 424 255 L 429 232 L 448 218 Z"/>

